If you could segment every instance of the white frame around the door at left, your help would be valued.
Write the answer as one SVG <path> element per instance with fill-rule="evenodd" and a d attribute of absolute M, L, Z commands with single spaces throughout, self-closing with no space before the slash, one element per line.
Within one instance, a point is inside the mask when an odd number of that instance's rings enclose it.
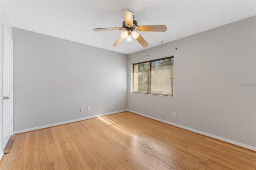
<path fill-rule="evenodd" d="M 2 35 L 2 67 L 1 67 L 1 71 L 2 71 L 2 120 L 4 118 L 4 100 L 3 100 L 3 96 L 4 96 L 4 89 L 3 89 L 3 85 L 4 85 L 4 35 L 6 35 L 6 37 L 12 42 L 12 80 L 11 80 L 11 84 L 12 84 L 12 91 L 11 91 L 11 99 L 12 99 L 12 115 L 11 115 L 11 119 L 12 119 L 12 125 L 11 125 L 11 135 L 13 135 L 13 41 L 12 41 L 12 38 L 10 37 L 10 34 L 9 32 L 7 31 L 7 29 L 5 28 L 5 26 L 3 25 L 3 35 Z M 4 127 L 4 122 L 2 121 L 2 127 Z M 3 129 L 3 128 L 2 128 Z M 5 146 L 4 146 L 4 131 L 2 131 L 2 148 L 4 150 Z"/>

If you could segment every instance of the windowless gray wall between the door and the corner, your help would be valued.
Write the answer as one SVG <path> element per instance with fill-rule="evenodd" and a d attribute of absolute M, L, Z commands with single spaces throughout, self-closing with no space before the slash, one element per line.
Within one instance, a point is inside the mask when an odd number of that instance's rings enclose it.
<path fill-rule="evenodd" d="M 12 31 L 14 131 L 127 109 L 127 55 Z"/>

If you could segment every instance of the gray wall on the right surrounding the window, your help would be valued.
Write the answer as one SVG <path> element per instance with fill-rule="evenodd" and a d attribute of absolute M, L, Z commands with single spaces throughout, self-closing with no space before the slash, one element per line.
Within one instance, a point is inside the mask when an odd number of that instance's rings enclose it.
<path fill-rule="evenodd" d="M 130 93 L 131 63 L 168 55 L 174 55 L 174 96 Z M 129 59 L 128 109 L 256 146 L 256 87 L 240 85 L 256 83 L 256 16 Z"/>

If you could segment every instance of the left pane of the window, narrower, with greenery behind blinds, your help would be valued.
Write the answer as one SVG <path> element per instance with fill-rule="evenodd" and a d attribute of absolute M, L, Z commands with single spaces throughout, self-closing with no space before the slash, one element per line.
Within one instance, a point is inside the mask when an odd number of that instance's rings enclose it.
<path fill-rule="evenodd" d="M 133 91 L 149 92 L 150 62 L 134 64 Z"/>

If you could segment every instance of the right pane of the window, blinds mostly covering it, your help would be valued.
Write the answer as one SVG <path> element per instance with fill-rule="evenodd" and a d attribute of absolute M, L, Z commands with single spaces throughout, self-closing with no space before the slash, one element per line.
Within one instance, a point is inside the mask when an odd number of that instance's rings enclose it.
<path fill-rule="evenodd" d="M 150 93 L 172 95 L 173 58 L 152 61 Z"/>

